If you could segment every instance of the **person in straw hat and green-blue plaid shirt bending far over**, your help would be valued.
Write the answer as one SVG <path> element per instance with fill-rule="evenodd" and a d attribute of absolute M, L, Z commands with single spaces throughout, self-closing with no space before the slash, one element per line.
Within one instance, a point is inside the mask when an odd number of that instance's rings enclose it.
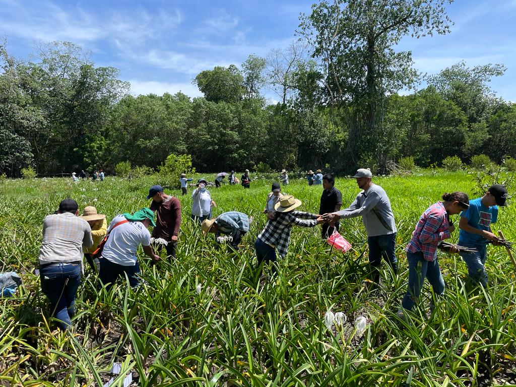
<path fill-rule="evenodd" d="M 240 240 L 249 231 L 249 218 L 246 214 L 230 211 L 220 214 L 215 219 L 206 219 L 201 224 L 204 235 L 215 233 L 215 240 L 220 234 L 230 236 L 229 246 L 238 251 Z"/>

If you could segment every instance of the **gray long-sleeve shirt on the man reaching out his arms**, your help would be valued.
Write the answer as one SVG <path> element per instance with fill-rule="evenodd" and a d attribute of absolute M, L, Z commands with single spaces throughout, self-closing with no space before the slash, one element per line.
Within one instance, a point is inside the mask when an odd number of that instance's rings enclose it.
<path fill-rule="evenodd" d="M 354 202 L 337 212 L 341 219 L 362 216 L 367 236 L 394 234 L 396 224 L 391 202 L 382 187 L 372 184 L 357 195 Z"/>

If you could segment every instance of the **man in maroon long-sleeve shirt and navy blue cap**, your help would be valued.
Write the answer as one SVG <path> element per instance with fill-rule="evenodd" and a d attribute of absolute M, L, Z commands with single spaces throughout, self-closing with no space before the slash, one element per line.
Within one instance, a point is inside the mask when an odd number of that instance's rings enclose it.
<path fill-rule="evenodd" d="M 152 199 L 149 208 L 156 213 L 156 225 L 152 230 L 152 237 L 165 239 L 168 257 L 175 258 L 181 227 L 181 203 L 178 198 L 167 195 L 160 185 L 153 185 L 149 189 L 147 199 Z M 161 251 L 163 244 L 156 244 L 154 248 L 156 251 Z"/>

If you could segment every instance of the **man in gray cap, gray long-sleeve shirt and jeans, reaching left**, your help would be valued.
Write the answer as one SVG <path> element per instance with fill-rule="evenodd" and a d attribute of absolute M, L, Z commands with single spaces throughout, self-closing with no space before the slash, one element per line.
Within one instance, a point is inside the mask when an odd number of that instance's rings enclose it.
<path fill-rule="evenodd" d="M 380 282 L 381 257 L 387 259 L 396 274 L 398 271 L 396 254 L 396 224 L 391 209 L 391 202 L 382 187 L 371 181 L 373 174 L 369 169 L 359 169 L 352 176 L 362 191 L 354 202 L 346 209 L 327 215 L 332 221 L 362 216 L 367 243 L 369 245 L 369 265 L 371 266 L 373 281 Z"/>

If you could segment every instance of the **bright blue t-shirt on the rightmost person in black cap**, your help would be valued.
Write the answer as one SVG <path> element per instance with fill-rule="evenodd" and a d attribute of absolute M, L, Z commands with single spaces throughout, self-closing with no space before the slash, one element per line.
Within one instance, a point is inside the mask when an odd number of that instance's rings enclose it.
<path fill-rule="evenodd" d="M 498 218 L 498 206 L 486 207 L 482 204 L 482 198 L 470 200 L 470 207 L 460 214 L 467 219 L 467 224 L 478 230 L 491 231 L 491 223 L 496 223 Z M 476 234 L 459 230 L 459 245 L 473 244 L 486 245 L 487 239 Z"/>

